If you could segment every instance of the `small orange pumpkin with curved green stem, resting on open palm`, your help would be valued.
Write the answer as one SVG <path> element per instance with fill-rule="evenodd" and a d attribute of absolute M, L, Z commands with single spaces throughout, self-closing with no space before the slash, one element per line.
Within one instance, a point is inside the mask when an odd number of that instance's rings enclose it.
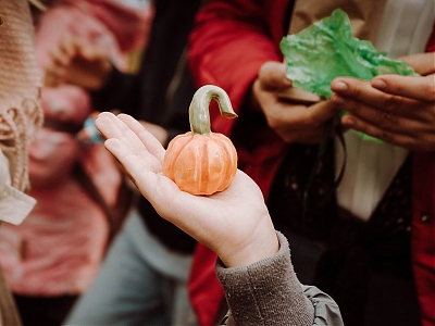
<path fill-rule="evenodd" d="M 163 174 L 179 189 L 192 195 L 225 190 L 237 172 L 237 152 L 226 136 L 210 129 L 209 105 L 216 100 L 221 115 L 236 117 L 227 93 L 220 87 L 199 88 L 189 106 L 190 131 L 176 136 L 167 146 Z"/>

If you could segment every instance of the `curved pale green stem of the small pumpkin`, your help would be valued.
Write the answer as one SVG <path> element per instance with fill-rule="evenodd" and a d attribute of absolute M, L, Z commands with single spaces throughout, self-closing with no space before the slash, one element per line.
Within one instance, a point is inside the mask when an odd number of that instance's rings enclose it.
<path fill-rule="evenodd" d="M 225 90 L 214 85 L 202 86 L 195 92 L 189 106 L 190 130 L 192 134 L 208 135 L 211 133 L 209 105 L 213 99 L 216 100 L 223 117 L 237 117 Z"/>

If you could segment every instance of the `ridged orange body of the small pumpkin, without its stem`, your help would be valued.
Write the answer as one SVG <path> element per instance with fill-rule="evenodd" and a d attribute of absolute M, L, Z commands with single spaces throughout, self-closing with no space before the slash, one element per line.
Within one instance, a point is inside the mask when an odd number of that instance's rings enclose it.
<path fill-rule="evenodd" d="M 212 195 L 229 187 L 237 172 L 237 152 L 224 135 L 178 135 L 169 145 L 163 174 L 179 189 Z"/>

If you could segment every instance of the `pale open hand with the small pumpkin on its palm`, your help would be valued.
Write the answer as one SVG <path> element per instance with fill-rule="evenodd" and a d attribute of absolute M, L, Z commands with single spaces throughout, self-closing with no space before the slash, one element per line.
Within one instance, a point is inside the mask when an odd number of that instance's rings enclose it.
<path fill-rule="evenodd" d="M 163 218 L 208 246 L 227 267 L 254 263 L 278 250 L 264 199 L 240 171 L 224 191 L 194 196 L 162 174 L 165 150 L 144 126 L 126 114 L 101 113 L 96 126 L 105 148 Z"/>

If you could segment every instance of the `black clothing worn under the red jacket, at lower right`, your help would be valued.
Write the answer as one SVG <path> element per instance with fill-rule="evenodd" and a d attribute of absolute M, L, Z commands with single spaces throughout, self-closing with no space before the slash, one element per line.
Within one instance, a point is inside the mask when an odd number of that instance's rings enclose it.
<path fill-rule="evenodd" d="M 300 281 L 333 297 L 346 325 L 378 325 L 380 316 L 385 324 L 420 325 L 410 247 L 412 156 L 364 223 L 337 206 L 333 143 L 320 162 L 318 150 L 293 145 L 269 197 L 275 228 L 289 239 Z M 302 216 L 312 168 L 316 173 Z"/>

